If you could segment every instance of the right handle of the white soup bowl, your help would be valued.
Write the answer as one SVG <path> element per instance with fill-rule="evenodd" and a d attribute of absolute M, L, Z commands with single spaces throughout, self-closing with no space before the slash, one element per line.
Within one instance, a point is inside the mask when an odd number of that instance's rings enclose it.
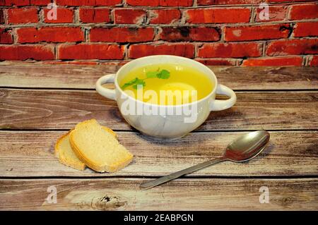
<path fill-rule="evenodd" d="M 210 104 L 210 111 L 220 111 L 223 109 L 228 109 L 232 107 L 236 102 L 235 92 L 224 85 L 218 85 L 216 87 L 216 95 L 226 95 L 230 97 L 230 99 L 212 101 Z"/>

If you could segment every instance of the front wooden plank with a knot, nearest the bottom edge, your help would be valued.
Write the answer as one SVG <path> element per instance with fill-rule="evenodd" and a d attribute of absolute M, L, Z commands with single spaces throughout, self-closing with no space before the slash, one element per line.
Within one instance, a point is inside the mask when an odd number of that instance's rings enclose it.
<path fill-rule="evenodd" d="M 140 190 L 140 178 L 0 180 L 1 210 L 317 210 L 318 178 L 179 179 Z M 47 188 L 57 188 L 57 203 Z M 269 203 L 260 203 L 261 187 Z M 264 199 L 261 197 L 261 199 Z"/>

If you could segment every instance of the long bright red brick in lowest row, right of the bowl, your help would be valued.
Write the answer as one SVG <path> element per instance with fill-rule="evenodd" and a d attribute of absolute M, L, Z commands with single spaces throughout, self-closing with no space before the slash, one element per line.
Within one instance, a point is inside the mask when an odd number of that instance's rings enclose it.
<path fill-rule="evenodd" d="M 246 59 L 242 66 L 302 66 L 302 57 L 274 57 L 265 59 Z"/>

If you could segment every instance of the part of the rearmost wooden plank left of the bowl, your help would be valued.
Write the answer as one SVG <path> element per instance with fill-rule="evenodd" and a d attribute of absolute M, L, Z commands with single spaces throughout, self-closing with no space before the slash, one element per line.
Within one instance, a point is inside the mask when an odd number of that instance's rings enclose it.
<path fill-rule="evenodd" d="M 118 69 L 119 66 L 0 64 L 0 87 L 93 89 L 98 78 Z"/>

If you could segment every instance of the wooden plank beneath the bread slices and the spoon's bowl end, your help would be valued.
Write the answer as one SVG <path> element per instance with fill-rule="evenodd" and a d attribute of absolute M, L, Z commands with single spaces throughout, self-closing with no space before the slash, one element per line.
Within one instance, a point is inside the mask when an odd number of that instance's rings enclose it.
<path fill-rule="evenodd" d="M 115 174 L 77 171 L 60 164 L 54 145 L 61 131 L 0 131 L 2 177 L 37 176 L 163 176 L 214 157 L 244 132 L 190 133 L 179 140 L 160 142 L 139 133 L 117 132 L 134 154 L 129 166 Z M 223 162 L 188 176 L 317 176 L 318 131 L 271 132 L 264 152 L 249 163 Z"/>

